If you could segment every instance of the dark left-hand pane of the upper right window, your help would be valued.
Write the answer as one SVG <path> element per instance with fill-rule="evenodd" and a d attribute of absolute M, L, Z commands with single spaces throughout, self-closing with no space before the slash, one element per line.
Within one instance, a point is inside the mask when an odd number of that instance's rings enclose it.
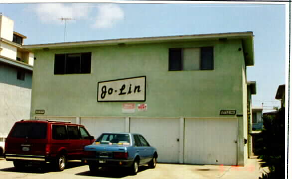
<path fill-rule="evenodd" d="M 168 70 L 182 70 L 182 53 L 181 48 L 170 48 L 169 49 L 169 62 L 168 62 Z"/>

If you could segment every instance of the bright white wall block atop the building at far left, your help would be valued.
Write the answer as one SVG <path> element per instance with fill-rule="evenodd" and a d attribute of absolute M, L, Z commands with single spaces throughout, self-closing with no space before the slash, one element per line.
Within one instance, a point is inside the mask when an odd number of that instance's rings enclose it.
<path fill-rule="evenodd" d="M 13 20 L 6 16 L 0 15 L 0 37 L 6 40 L 13 40 Z"/>

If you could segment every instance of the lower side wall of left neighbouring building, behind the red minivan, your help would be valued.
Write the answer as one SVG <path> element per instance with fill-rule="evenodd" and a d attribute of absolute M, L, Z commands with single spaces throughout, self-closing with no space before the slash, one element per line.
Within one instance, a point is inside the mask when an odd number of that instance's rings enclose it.
<path fill-rule="evenodd" d="M 17 68 L 0 63 L 0 137 L 6 137 L 15 121 L 29 119 L 32 72 L 17 80 Z"/>

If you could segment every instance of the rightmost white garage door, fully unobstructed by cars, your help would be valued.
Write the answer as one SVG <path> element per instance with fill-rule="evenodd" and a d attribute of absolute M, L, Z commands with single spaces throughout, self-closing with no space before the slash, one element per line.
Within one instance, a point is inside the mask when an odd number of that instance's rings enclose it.
<path fill-rule="evenodd" d="M 236 165 L 237 119 L 185 119 L 184 163 Z"/>

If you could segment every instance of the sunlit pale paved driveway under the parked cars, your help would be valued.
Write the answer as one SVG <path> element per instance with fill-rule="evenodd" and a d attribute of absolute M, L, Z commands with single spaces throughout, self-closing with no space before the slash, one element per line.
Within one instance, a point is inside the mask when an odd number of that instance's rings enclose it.
<path fill-rule="evenodd" d="M 80 162 L 69 162 L 63 172 L 42 172 L 34 168 L 18 172 L 12 162 L 0 158 L 0 179 L 259 179 L 262 172 L 257 159 L 248 159 L 245 167 L 157 164 L 155 169 L 141 167 L 137 176 L 109 169 L 91 175 L 88 166 Z"/>

